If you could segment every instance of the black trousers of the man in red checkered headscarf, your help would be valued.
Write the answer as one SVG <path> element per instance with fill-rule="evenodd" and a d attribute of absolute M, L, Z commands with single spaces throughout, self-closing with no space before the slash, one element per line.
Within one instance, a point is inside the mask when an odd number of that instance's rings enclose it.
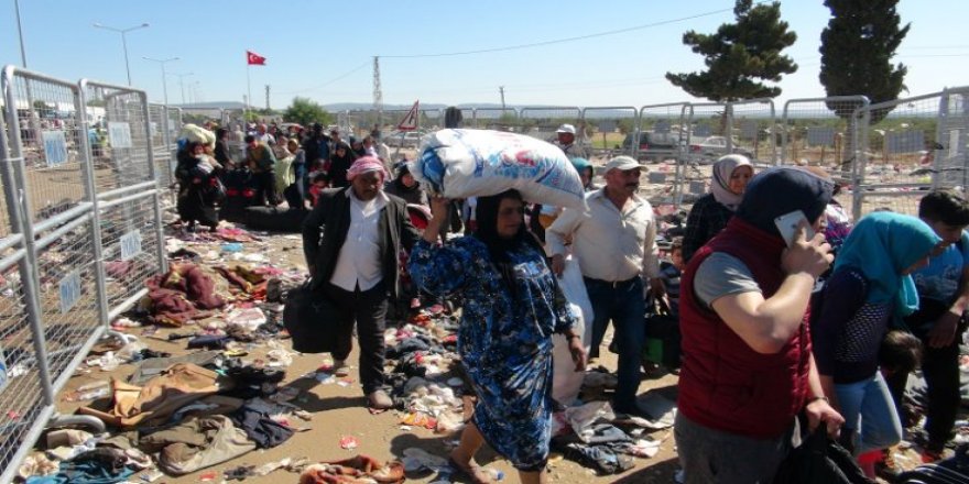
<path fill-rule="evenodd" d="M 383 282 L 368 290 L 346 290 L 333 284 L 326 286 L 327 295 L 337 311 L 339 333 L 334 360 L 346 360 L 353 349 L 353 326 L 357 326 L 357 340 L 360 343 L 360 383 L 363 393 L 369 395 L 383 386 L 383 360 L 386 345 L 383 331 L 386 329 L 386 286 Z"/>

